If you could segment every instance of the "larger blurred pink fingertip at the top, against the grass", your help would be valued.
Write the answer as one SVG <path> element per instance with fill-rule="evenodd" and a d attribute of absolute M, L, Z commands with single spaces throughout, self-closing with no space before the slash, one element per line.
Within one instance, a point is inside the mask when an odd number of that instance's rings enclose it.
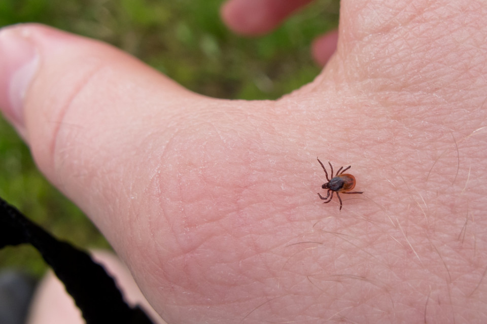
<path fill-rule="evenodd" d="M 234 32 L 259 35 L 279 25 L 312 0 L 229 0 L 222 6 L 223 21 Z"/>

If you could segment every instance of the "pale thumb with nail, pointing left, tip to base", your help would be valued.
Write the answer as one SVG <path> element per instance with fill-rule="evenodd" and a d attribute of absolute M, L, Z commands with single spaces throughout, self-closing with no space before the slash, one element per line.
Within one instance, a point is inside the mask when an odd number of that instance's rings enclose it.
<path fill-rule="evenodd" d="M 34 24 L 0 32 L 0 109 L 41 171 L 105 234 L 113 224 L 97 215 L 135 195 L 132 171 L 158 150 L 145 144 L 162 148 L 172 117 L 196 100 L 211 99 L 106 44 Z M 133 192 L 121 192 L 124 182 Z"/>

